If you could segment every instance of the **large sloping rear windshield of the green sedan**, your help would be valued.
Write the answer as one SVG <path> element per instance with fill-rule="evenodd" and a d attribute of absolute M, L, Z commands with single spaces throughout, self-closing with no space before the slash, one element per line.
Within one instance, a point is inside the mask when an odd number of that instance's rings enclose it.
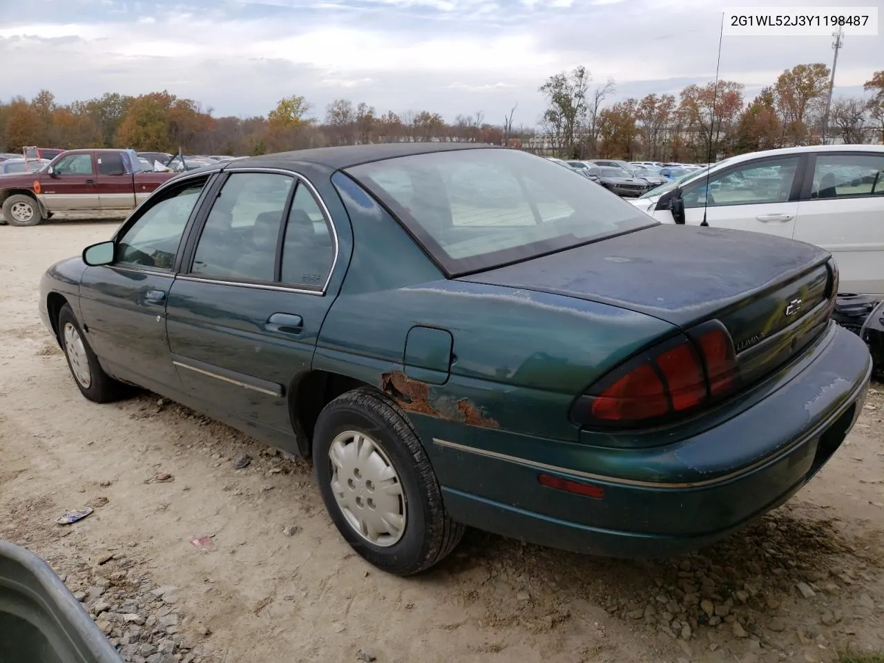
<path fill-rule="evenodd" d="M 347 173 L 450 277 L 657 223 L 579 173 L 514 149 L 400 156 Z"/>

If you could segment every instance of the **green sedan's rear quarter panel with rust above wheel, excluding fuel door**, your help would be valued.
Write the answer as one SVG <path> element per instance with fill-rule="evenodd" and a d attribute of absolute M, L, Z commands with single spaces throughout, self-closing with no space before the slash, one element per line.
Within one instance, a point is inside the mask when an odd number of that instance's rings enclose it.
<path fill-rule="evenodd" d="M 576 441 L 568 420 L 575 397 L 629 354 L 677 331 L 603 303 L 446 280 L 376 202 L 352 188 L 342 199 L 354 253 L 314 367 L 377 385 L 413 415 L 458 429 L 468 423 Z M 453 337 L 444 384 L 404 375 L 415 325 Z"/>

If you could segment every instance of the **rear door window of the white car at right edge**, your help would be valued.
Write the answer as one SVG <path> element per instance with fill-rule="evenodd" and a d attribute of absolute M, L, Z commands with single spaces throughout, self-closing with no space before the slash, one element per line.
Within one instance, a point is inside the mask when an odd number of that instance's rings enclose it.
<path fill-rule="evenodd" d="M 872 195 L 884 195 L 884 155 L 817 155 L 811 199 Z"/>

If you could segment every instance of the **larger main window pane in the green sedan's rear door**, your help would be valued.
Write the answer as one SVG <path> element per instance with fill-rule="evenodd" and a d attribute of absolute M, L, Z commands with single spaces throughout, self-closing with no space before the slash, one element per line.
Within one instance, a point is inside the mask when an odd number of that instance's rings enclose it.
<path fill-rule="evenodd" d="M 192 273 L 233 281 L 273 281 L 279 226 L 294 178 L 234 172 L 203 226 Z"/>

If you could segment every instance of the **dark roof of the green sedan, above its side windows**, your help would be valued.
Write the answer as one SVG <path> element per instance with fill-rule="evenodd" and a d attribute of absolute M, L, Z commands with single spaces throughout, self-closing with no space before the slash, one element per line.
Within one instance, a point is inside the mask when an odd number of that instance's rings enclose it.
<path fill-rule="evenodd" d="M 457 142 L 387 142 L 376 145 L 346 145 L 335 148 L 297 149 L 262 156 L 249 156 L 235 162 L 236 168 L 281 167 L 286 164 L 310 163 L 335 170 L 349 168 L 397 156 L 413 156 L 432 152 L 452 152 L 462 149 L 507 149 L 499 145 Z"/>

